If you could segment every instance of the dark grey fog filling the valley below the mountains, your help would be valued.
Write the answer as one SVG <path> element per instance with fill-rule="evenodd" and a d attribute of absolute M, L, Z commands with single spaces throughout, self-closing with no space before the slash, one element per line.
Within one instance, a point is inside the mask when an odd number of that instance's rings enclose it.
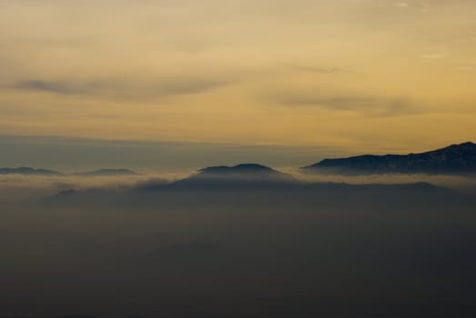
<path fill-rule="evenodd" d="M 144 190 L 167 178 L 20 179 L 2 182 L 1 317 L 476 313 L 474 193 L 421 183 Z"/>

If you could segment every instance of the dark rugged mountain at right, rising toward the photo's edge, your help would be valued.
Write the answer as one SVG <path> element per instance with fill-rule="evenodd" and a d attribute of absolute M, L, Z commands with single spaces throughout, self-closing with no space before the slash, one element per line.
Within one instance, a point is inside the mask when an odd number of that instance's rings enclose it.
<path fill-rule="evenodd" d="M 476 174 L 476 144 L 452 144 L 421 154 L 365 154 L 302 167 L 317 174 Z"/>

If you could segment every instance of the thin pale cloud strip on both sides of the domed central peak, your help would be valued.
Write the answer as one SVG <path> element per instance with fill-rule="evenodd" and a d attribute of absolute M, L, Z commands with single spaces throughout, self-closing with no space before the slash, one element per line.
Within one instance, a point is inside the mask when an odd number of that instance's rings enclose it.
<path fill-rule="evenodd" d="M 292 175 L 305 183 L 345 184 L 412 184 L 425 182 L 467 193 L 476 193 L 476 178 L 458 175 L 432 174 L 370 174 L 362 176 L 303 174 L 291 167 L 279 167 L 278 171 Z M 81 176 L 81 175 L 22 175 L 0 174 L 0 202 L 41 199 L 68 189 L 105 189 L 125 191 L 140 184 L 173 182 L 196 174 L 192 170 L 177 170 L 162 174 Z"/>

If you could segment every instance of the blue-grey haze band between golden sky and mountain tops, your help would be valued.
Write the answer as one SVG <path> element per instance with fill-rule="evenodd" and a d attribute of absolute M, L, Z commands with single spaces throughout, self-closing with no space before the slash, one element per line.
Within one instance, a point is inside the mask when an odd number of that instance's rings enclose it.
<path fill-rule="evenodd" d="M 461 144 L 469 140 L 454 141 Z M 327 158 L 360 154 L 423 153 L 434 148 L 398 150 L 391 144 L 359 152 L 334 146 L 231 143 L 172 143 L 145 140 L 107 140 L 62 136 L 0 134 L 0 167 L 43 168 L 73 174 L 102 168 L 126 168 L 140 174 L 184 174 L 213 165 L 258 163 L 297 170 Z"/>

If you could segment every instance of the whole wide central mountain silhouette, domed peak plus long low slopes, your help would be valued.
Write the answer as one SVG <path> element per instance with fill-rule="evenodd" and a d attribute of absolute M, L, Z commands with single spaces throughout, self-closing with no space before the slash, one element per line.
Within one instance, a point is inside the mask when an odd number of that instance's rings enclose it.
<path fill-rule="evenodd" d="M 154 180 L 126 191 L 101 189 L 65 190 L 47 197 L 41 203 L 49 206 L 71 206 L 88 208 L 101 206 L 106 209 L 157 207 L 173 208 L 185 204 L 263 204 L 284 197 L 289 203 L 309 200 L 414 200 L 420 202 L 428 197 L 445 197 L 451 192 L 428 183 L 413 184 L 345 184 L 307 183 L 261 164 L 238 164 L 236 166 L 213 166 L 197 171 L 185 179 L 167 182 Z M 318 199 L 320 198 L 320 199 Z M 269 202 L 271 202 L 269 201 Z M 195 203 L 195 204 L 194 204 Z"/>

